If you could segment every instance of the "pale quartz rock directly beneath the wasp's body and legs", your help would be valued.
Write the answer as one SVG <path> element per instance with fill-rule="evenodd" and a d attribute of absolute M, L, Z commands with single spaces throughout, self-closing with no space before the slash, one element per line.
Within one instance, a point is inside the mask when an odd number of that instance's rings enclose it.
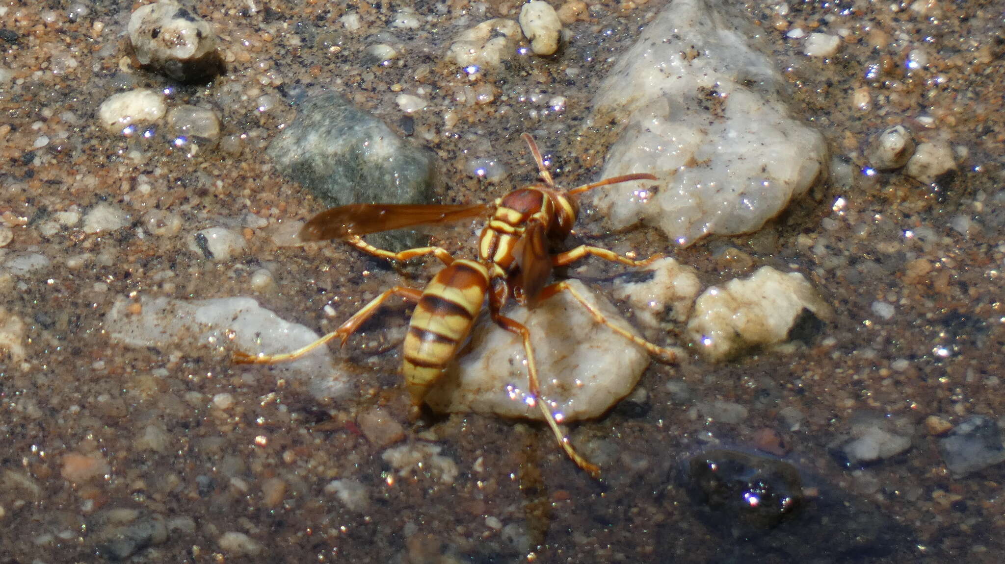
<path fill-rule="evenodd" d="M 635 333 L 616 309 L 578 280 L 570 286 L 608 320 Z M 644 349 L 593 317 L 568 292 L 536 304 L 507 310 L 531 331 L 542 394 L 564 420 L 596 417 L 635 387 L 649 364 Z M 493 413 L 542 418 L 528 404 L 527 367 L 522 340 L 490 321 L 471 336 L 471 350 L 433 386 L 426 402 L 436 411 Z"/>

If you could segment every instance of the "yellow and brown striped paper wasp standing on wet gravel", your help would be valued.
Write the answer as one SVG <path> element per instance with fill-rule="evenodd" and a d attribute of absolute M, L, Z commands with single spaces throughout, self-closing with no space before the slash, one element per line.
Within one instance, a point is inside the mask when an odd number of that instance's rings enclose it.
<path fill-rule="evenodd" d="M 600 470 L 573 449 L 569 439 L 559 429 L 548 402 L 540 396 L 530 331 L 504 315 L 502 309 L 511 296 L 519 303 L 527 304 L 566 291 L 590 312 L 597 323 L 606 325 L 663 361 L 674 361 L 676 349 L 657 346 L 610 324 L 600 311 L 566 282 L 546 286 L 553 267 L 568 265 L 588 255 L 629 266 L 646 266 L 660 258 L 657 255 L 646 260 L 632 260 L 613 251 L 587 245 L 557 254 L 550 253 L 549 249 L 550 240 L 565 239 L 572 232 L 577 214 L 576 201 L 572 197 L 602 186 L 656 178 L 648 174 L 624 175 L 563 191 L 556 187 L 545 168 L 533 137 L 527 133 L 523 137 L 538 165 L 542 183 L 515 190 L 490 204 L 352 204 L 332 208 L 312 218 L 300 231 L 300 238 L 305 241 L 342 239 L 365 253 L 395 261 L 433 255 L 443 262 L 444 268 L 423 290 L 394 286 L 384 291 L 339 328 L 297 350 L 256 356 L 238 352 L 234 360 L 242 363 L 281 362 L 298 358 L 337 337 L 345 344 L 349 336 L 384 302 L 392 296 L 399 296 L 416 304 L 405 335 L 402 373 L 412 403 L 418 406 L 430 386 L 443 375 L 457 355 L 487 301 L 492 321 L 523 339 L 531 394 L 529 403 L 540 406 L 545 420 L 569 458 L 591 476 L 598 477 Z M 395 253 L 378 249 L 362 239 L 368 233 L 478 216 L 487 216 L 488 219 L 478 237 L 477 260 L 455 259 L 440 247 L 421 247 Z"/>

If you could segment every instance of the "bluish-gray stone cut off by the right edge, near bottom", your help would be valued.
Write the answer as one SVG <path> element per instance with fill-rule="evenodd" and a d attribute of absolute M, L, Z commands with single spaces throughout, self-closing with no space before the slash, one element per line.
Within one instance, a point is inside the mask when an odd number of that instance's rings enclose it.
<path fill-rule="evenodd" d="M 957 479 L 1005 462 L 998 424 L 985 415 L 971 415 L 953 428 L 939 440 L 939 454 Z"/>

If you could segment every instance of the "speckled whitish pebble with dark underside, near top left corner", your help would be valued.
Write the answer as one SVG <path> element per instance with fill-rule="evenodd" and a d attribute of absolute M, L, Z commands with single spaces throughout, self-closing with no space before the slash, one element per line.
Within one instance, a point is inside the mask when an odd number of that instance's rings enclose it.
<path fill-rule="evenodd" d="M 140 65 L 174 80 L 206 81 L 222 70 L 213 26 L 175 0 L 137 8 L 127 32 Z"/>

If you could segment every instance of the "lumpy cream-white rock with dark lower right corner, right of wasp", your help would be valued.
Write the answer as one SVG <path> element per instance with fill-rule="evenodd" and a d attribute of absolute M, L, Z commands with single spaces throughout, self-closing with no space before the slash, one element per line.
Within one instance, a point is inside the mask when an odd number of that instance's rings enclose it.
<path fill-rule="evenodd" d="M 686 334 L 698 352 L 723 360 L 748 346 L 784 342 L 804 309 L 823 320 L 832 315 L 802 274 L 764 266 L 698 296 Z"/>

